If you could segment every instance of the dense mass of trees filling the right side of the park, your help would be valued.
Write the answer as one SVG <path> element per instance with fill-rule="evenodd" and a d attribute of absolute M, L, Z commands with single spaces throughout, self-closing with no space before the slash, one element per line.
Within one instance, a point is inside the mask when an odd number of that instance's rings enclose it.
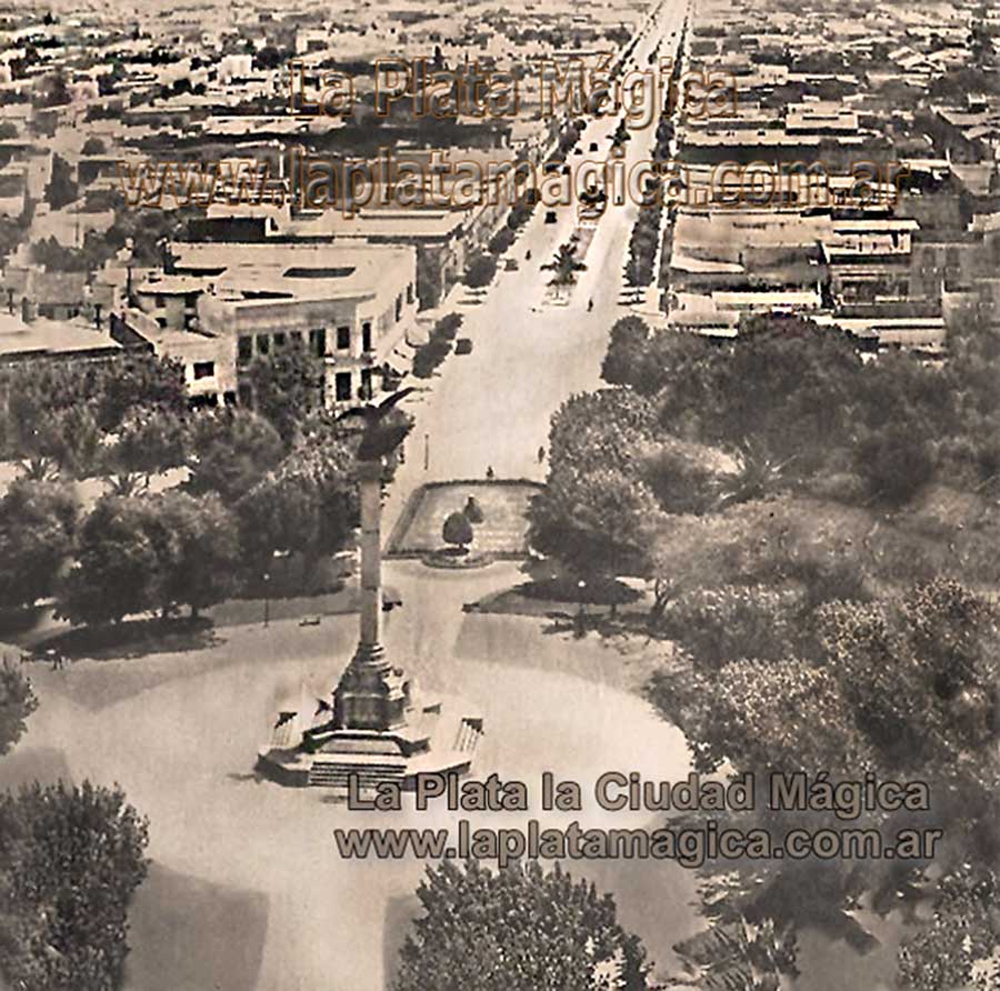
<path fill-rule="evenodd" d="M 602 369 L 614 388 L 556 414 L 530 511 L 532 545 L 568 571 L 649 579 L 647 630 L 673 641 L 649 695 L 699 770 L 929 782 L 930 812 L 847 823 L 890 842 L 947 825 L 937 865 L 969 871 L 937 885 L 934 921 L 904 945 L 921 991 L 979 979 L 1000 948 L 998 371 L 1000 336 L 974 320 L 928 363 L 862 360 L 798 318 L 744 321 L 728 342 L 624 318 Z M 816 809 L 746 817 L 779 840 L 846 828 Z M 923 867 L 727 862 L 707 911 L 851 928 L 837 915 L 851 898 L 888 904 Z"/>

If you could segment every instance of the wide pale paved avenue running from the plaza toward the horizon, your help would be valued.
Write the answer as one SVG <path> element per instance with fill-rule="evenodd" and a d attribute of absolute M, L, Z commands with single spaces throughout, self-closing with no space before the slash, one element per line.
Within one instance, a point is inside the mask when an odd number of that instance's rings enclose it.
<path fill-rule="evenodd" d="M 658 22 L 637 46 L 637 66 L 646 68 L 660 37 L 660 54 L 671 53 L 671 33 L 679 34 L 684 7 L 664 3 Z M 617 117 L 591 119 L 578 146 L 581 154 L 571 152 L 569 161 L 596 157 L 591 142 L 606 154 L 617 123 Z M 651 126 L 633 132 L 627 168 L 649 157 L 653 130 Z M 384 534 L 422 482 L 482 478 L 488 466 L 498 478 L 543 478 L 537 453 L 548 446 L 552 413 L 572 393 L 599 384 L 611 324 L 627 312 L 622 271 L 637 213 L 628 198 L 624 204 L 609 206 L 567 306 L 547 301 L 552 273 L 541 264 L 572 232 L 574 204 L 558 208 L 556 224 L 544 222 L 543 208 L 536 210 L 508 256 L 519 261 L 519 270 L 501 271 L 481 301 L 473 302 L 464 287 L 456 287 L 446 309 L 464 317 L 460 333 L 473 340 L 473 351 L 449 357 L 441 374 L 429 380 L 430 388 L 407 403 L 417 423 L 386 507 Z M 531 261 L 526 262 L 528 251 Z M 591 299 L 593 310 L 588 312 Z"/>

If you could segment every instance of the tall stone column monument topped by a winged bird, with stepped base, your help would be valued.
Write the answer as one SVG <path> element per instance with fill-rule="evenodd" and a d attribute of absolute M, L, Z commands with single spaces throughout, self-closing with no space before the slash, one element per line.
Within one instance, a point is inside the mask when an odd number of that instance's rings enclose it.
<path fill-rule="evenodd" d="M 358 450 L 360 638 L 333 691 L 333 704 L 321 702 L 309 725 L 301 707 L 283 709 L 271 740 L 261 749 L 261 769 L 286 784 L 346 791 L 353 777 L 356 788 L 364 790 L 386 780 L 402 781 L 406 787 L 418 773 L 463 773 L 471 767 L 482 732 L 482 719 L 469 707 L 454 704 L 457 700 L 448 705 L 441 700 L 419 701 L 403 669 L 390 663 L 381 642 L 382 473 L 386 457 L 409 431 L 409 420 L 401 420 L 393 409 L 409 391 L 348 414 L 366 419 Z"/>

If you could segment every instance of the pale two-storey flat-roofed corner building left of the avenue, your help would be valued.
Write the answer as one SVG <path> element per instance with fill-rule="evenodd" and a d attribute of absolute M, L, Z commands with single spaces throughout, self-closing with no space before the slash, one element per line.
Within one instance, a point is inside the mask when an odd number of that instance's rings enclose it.
<path fill-rule="evenodd" d="M 323 401 L 348 408 L 406 369 L 417 328 L 409 247 L 174 243 L 171 273 L 136 287 L 127 319 L 181 361 L 192 400 L 252 406 L 247 374 L 300 343 L 324 368 Z"/>

